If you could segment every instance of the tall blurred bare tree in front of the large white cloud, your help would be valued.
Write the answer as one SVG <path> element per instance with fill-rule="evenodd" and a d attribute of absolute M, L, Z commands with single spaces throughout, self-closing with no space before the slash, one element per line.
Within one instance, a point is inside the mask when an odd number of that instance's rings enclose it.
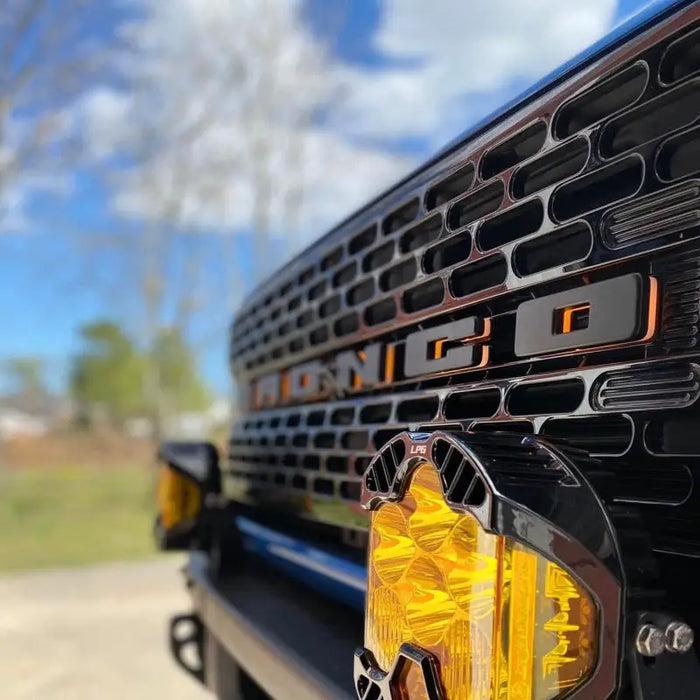
<path fill-rule="evenodd" d="M 85 104 L 93 124 L 112 122 L 109 134 L 92 133 L 93 148 L 115 207 L 139 222 L 125 241 L 135 246 L 143 342 L 154 348 L 162 327 L 186 328 L 212 294 L 198 235 L 221 248 L 226 314 L 243 280 L 269 269 L 273 230 L 299 220 L 307 133 L 331 81 L 295 2 L 143 0 L 142 10 L 122 32 L 119 88 Z M 252 234 L 252 260 L 238 249 L 241 232 Z M 183 234 L 192 254 L 174 271 Z M 155 362 L 148 381 L 158 426 L 168 407 Z"/>

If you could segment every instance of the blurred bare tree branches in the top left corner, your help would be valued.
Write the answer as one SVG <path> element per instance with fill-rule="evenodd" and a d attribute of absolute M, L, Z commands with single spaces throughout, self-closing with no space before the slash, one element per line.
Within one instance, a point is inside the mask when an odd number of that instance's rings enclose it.
<path fill-rule="evenodd" d="M 70 107 L 96 77 L 109 34 L 86 39 L 97 0 L 3 0 L 0 9 L 0 226 L 27 192 L 65 186 Z M 2 216 L 5 215 L 5 216 Z"/>

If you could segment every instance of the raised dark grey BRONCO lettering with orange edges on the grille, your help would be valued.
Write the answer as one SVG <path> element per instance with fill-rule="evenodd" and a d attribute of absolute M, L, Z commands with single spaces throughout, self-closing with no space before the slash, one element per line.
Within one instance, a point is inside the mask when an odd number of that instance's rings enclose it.
<path fill-rule="evenodd" d="M 615 303 L 610 303 L 614 299 Z M 513 351 L 517 357 L 610 347 L 649 340 L 656 329 L 657 281 L 624 275 L 518 306 Z M 577 320 L 574 312 L 585 310 Z M 566 316 L 566 328 L 557 319 Z M 251 410 L 374 388 L 397 379 L 427 376 L 489 363 L 491 319 L 478 316 L 415 331 L 403 342 L 403 362 L 394 367 L 393 343 L 344 350 L 268 374 L 251 385 Z"/>

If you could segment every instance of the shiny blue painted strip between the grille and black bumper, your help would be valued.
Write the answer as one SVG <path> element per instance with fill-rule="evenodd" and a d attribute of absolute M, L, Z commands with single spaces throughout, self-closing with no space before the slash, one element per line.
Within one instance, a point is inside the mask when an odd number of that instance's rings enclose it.
<path fill-rule="evenodd" d="M 301 540 L 239 516 L 243 546 L 290 576 L 354 608 L 364 609 L 367 571 Z"/>

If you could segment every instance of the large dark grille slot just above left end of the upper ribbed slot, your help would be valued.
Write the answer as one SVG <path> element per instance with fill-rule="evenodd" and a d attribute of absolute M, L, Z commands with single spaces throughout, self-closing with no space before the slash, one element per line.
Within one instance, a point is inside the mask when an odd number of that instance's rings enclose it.
<path fill-rule="evenodd" d="M 643 178 L 642 159 L 628 156 L 559 187 L 552 197 L 552 214 L 557 221 L 566 221 L 631 197 Z"/>

